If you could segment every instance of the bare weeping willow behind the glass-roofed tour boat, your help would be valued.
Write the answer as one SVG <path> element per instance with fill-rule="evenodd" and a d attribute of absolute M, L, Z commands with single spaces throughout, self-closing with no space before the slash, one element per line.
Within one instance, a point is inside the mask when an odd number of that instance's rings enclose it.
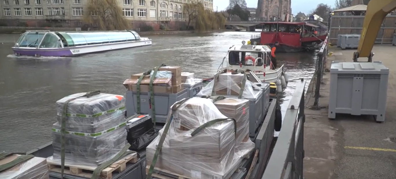
<path fill-rule="evenodd" d="M 84 13 L 86 23 L 97 23 L 101 30 L 126 30 L 129 23 L 116 0 L 89 0 Z"/>

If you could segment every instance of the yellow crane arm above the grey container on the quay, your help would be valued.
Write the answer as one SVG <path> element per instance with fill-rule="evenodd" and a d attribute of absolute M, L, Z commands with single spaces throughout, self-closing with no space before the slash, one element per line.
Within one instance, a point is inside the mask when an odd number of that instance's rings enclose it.
<path fill-rule="evenodd" d="M 354 53 L 353 60 L 355 62 L 358 57 L 368 57 L 369 61 L 371 61 L 373 54 L 371 50 L 373 49 L 378 31 L 385 16 L 394 9 L 396 9 L 396 0 L 370 0 L 369 4 L 367 4 L 358 51 Z"/>

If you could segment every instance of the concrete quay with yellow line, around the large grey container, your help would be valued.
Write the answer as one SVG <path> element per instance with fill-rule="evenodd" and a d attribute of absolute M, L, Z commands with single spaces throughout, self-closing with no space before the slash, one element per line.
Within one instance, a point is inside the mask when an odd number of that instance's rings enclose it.
<path fill-rule="evenodd" d="M 356 50 L 329 47 L 326 69 L 333 60 L 352 62 Z M 385 122 L 372 116 L 337 114 L 327 118 L 330 72 L 324 72 L 320 87 L 320 110 L 309 109 L 314 86 L 307 92 L 304 129 L 305 179 L 395 179 L 396 178 L 396 47 L 375 45 L 373 61 L 390 69 Z M 358 61 L 367 60 L 362 58 Z"/>

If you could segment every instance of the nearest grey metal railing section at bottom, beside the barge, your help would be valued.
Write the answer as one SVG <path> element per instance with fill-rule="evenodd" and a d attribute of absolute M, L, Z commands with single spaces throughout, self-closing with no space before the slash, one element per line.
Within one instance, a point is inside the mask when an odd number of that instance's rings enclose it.
<path fill-rule="evenodd" d="M 303 79 L 297 81 L 282 130 L 261 179 L 303 179 L 305 83 Z"/>

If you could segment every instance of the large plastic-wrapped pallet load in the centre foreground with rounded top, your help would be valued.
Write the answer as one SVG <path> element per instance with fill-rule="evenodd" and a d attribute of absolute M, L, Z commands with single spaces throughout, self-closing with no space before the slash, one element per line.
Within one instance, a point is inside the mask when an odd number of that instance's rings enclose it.
<path fill-rule="evenodd" d="M 202 124 L 223 118 L 227 117 L 210 99 L 187 100 L 173 115 L 155 168 L 192 178 L 229 178 L 242 161 L 235 153 L 234 122 L 217 122 L 191 136 Z M 147 146 L 147 165 L 153 160 L 163 131 Z"/>

